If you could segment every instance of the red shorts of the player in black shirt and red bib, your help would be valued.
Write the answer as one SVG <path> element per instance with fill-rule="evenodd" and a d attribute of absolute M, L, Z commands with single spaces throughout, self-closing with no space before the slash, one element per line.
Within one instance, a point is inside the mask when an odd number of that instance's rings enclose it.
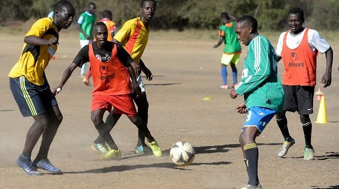
<path fill-rule="evenodd" d="M 115 114 L 126 114 L 129 117 L 136 116 L 137 110 L 130 94 L 122 95 L 94 95 L 92 97 L 91 111 L 106 109 L 109 112 L 114 108 Z"/>

